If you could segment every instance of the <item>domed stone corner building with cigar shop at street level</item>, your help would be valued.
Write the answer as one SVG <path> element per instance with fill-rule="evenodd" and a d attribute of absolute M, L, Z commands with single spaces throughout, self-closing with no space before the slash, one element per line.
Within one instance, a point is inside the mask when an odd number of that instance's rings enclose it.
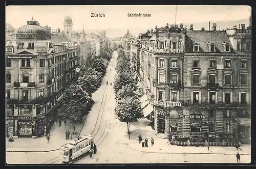
<path fill-rule="evenodd" d="M 42 136 L 55 120 L 65 88 L 78 75 L 80 48 L 33 18 L 14 31 L 6 48 L 7 136 Z"/>

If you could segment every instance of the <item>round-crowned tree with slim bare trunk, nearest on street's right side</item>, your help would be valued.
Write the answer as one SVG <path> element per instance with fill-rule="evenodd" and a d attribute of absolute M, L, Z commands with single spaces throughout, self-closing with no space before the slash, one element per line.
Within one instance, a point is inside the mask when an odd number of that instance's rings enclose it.
<path fill-rule="evenodd" d="M 130 139 L 129 123 L 137 122 L 142 117 L 140 101 L 136 96 L 127 96 L 118 100 L 115 115 L 120 122 L 127 124 L 127 134 Z"/>

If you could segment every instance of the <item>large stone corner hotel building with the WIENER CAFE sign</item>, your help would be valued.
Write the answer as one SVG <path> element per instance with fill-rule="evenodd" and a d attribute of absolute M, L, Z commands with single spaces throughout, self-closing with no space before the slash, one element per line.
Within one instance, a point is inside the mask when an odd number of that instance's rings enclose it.
<path fill-rule="evenodd" d="M 156 134 L 250 140 L 250 31 L 232 34 L 216 26 L 194 31 L 193 24 L 189 30 L 166 25 L 140 35 L 142 108 Z M 241 43 L 249 47 L 237 50 Z"/>

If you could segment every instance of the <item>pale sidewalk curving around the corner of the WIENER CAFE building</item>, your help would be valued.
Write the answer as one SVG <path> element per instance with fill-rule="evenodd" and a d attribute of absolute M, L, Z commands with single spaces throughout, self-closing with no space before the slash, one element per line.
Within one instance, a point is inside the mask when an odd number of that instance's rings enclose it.
<path fill-rule="evenodd" d="M 155 135 L 154 130 L 149 126 L 149 122 L 146 119 L 141 119 L 136 123 L 132 123 L 131 125 L 131 139 L 127 140 L 129 142 L 129 147 L 145 152 L 145 153 L 167 153 L 167 154 L 239 154 L 241 155 L 250 155 L 251 147 L 250 145 L 242 145 L 241 150 L 237 151 L 235 147 L 209 147 L 209 151 L 207 147 L 195 147 L 195 146 L 174 146 L 170 145 L 168 139 L 162 139 Z M 148 139 L 148 147 L 142 147 L 141 144 L 137 141 L 137 136 L 140 135 L 144 139 L 147 137 Z M 151 147 L 150 139 L 153 137 L 155 145 Z"/>

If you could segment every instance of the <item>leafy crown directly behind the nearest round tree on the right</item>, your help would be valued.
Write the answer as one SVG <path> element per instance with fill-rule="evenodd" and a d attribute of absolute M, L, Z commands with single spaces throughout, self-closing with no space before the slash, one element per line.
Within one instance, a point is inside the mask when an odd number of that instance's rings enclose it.
<path fill-rule="evenodd" d="M 137 88 L 135 88 L 134 84 L 126 84 L 125 86 L 120 89 L 116 94 L 116 99 L 120 100 L 125 98 L 126 96 L 138 96 L 139 92 L 136 91 Z"/>

